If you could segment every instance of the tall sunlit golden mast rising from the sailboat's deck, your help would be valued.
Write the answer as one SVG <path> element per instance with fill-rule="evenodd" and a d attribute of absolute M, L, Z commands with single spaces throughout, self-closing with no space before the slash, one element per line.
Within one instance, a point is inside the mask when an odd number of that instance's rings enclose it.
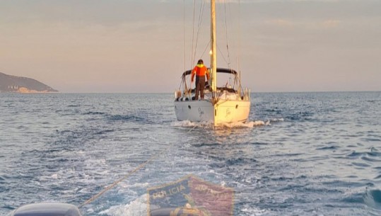
<path fill-rule="evenodd" d="M 217 90 L 217 51 L 216 51 L 216 0 L 211 0 L 211 89 L 216 98 Z"/>

